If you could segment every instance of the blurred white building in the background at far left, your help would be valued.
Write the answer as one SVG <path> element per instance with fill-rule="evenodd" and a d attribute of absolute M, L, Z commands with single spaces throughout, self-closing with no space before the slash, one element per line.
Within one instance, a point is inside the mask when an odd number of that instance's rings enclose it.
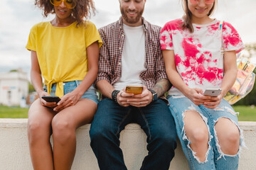
<path fill-rule="evenodd" d="M 28 96 L 28 76 L 26 72 L 0 73 L 0 104 L 20 106 Z"/>

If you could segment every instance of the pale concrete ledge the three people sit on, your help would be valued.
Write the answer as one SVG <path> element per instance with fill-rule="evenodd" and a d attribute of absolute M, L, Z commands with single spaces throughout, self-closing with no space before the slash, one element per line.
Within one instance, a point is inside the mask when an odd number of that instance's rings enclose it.
<path fill-rule="evenodd" d="M 0 169 L 27 170 L 33 169 L 28 150 L 26 133 L 27 119 L 0 119 Z M 240 122 L 244 130 L 245 142 L 248 149 L 240 154 L 239 170 L 256 169 L 256 122 Z M 72 170 L 97 170 L 97 159 L 90 148 L 90 125 L 78 128 L 77 151 Z M 137 124 L 129 124 L 121 132 L 121 147 L 124 161 L 129 170 L 137 170 L 142 164 L 146 150 L 146 135 Z M 176 156 L 171 162 L 170 169 L 186 170 L 188 163 L 178 143 Z"/>

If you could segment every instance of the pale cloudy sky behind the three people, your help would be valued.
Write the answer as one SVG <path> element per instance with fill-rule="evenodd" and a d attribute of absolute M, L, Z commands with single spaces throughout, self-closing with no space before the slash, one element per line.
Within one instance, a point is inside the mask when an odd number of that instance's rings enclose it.
<path fill-rule="evenodd" d="M 256 1 L 218 0 L 212 18 L 231 23 L 245 44 L 256 42 Z M 118 0 L 95 0 L 97 9 L 90 18 L 97 28 L 117 21 L 120 17 Z M 164 26 L 168 21 L 183 16 L 181 0 L 147 0 L 144 18 L 152 24 Z M 30 52 L 25 46 L 30 29 L 36 23 L 50 21 L 43 18 L 33 0 L 1 0 L 0 6 L 0 72 L 21 68 L 29 72 Z"/>

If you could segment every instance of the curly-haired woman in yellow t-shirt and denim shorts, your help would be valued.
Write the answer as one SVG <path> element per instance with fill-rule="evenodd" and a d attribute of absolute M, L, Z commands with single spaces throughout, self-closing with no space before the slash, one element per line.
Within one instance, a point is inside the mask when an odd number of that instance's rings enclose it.
<path fill-rule="evenodd" d="M 83 20 L 95 6 L 92 0 L 35 0 L 35 4 L 44 16 L 54 13 L 55 18 L 33 26 L 26 45 L 31 50 L 31 81 L 39 96 L 28 111 L 31 160 L 33 169 L 71 169 L 75 130 L 90 123 L 97 110 L 92 84 L 102 40 L 95 25 Z M 58 96 L 60 101 L 46 102 L 43 96 Z"/>

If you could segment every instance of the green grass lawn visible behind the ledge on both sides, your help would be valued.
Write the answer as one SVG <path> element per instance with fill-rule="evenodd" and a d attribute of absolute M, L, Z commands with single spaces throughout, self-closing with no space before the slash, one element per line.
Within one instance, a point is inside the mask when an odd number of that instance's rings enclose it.
<path fill-rule="evenodd" d="M 233 106 L 239 121 L 256 121 L 256 107 Z M 0 118 L 28 118 L 28 108 L 0 106 Z"/>

